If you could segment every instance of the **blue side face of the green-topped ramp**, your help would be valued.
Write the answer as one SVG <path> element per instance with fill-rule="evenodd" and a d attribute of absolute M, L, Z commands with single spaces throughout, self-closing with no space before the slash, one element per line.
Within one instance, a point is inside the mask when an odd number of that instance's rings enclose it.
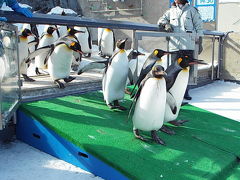
<path fill-rule="evenodd" d="M 60 137 L 39 121 L 17 111 L 17 139 L 106 180 L 128 180 L 126 176 Z"/>

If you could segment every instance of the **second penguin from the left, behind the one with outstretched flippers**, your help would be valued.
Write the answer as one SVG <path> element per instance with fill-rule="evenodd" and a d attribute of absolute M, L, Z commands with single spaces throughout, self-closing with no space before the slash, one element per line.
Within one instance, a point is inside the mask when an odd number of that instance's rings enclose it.
<path fill-rule="evenodd" d="M 42 34 L 39 40 L 38 48 L 53 44 L 55 41 L 53 32 L 56 30 L 57 30 L 56 26 L 48 25 L 48 27 L 46 28 L 46 31 Z M 47 64 L 44 64 L 44 60 L 46 56 L 47 56 L 47 52 L 41 53 L 35 57 L 35 72 L 37 75 L 41 74 L 39 72 L 39 69 L 47 69 Z"/>

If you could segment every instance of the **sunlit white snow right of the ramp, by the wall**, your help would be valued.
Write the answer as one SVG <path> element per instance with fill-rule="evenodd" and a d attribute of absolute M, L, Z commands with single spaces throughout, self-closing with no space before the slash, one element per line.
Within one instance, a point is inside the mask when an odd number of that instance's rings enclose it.
<path fill-rule="evenodd" d="M 240 122 L 240 85 L 215 81 L 192 89 L 190 104 Z"/>

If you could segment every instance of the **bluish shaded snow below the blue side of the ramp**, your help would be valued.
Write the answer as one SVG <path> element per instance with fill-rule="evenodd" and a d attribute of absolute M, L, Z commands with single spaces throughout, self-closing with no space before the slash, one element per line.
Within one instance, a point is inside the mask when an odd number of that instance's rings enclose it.
<path fill-rule="evenodd" d="M 101 180 L 20 141 L 0 144 L 1 180 Z"/>

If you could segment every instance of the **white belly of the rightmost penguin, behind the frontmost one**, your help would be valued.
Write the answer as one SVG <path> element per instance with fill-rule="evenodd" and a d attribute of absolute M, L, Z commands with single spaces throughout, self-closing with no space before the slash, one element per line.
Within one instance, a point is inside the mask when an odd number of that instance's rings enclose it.
<path fill-rule="evenodd" d="M 176 101 L 177 112 L 176 114 L 173 114 L 170 106 L 166 103 L 164 122 L 173 121 L 178 117 L 179 110 L 181 108 L 181 104 L 183 101 L 184 93 L 187 88 L 188 77 L 189 77 L 189 69 L 180 71 L 175 80 L 174 85 L 169 90 L 169 92 L 172 94 L 172 96 Z"/>

